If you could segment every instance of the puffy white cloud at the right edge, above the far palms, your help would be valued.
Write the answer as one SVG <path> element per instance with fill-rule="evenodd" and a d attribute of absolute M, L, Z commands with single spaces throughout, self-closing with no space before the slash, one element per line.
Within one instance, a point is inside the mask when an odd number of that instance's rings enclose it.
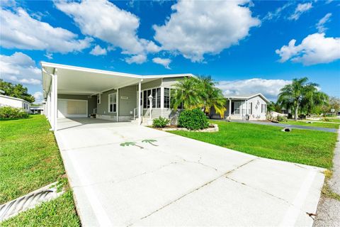
<path fill-rule="evenodd" d="M 302 62 L 303 65 L 329 63 L 340 59 L 340 38 L 325 38 L 324 33 L 314 33 L 304 38 L 300 45 L 296 40 L 290 40 L 276 53 L 280 55 L 280 62 L 291 60 Z"/>

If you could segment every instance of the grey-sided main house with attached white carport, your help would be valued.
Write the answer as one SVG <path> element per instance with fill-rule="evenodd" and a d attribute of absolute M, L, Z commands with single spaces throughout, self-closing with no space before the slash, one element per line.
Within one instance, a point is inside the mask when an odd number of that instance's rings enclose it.
<path fill-rule="evenodd" d="M 146 122 L 162 116 L 176 121 L 170 108 L 171 85 L 193 74 L 137 75 L 41 62 L 44 114 L 52 129 L 57 118 L 95 115 L 111 121 Z M 138 101 L 139 100 L 139 101 Z"/>

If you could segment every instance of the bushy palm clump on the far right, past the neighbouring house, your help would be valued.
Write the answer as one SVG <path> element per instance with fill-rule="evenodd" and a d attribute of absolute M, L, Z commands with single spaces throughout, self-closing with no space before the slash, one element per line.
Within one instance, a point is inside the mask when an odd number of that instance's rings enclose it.
<path fill-rule="evenodd" d="M 299 111 L 311 114 L 316 106 L 322 106 L 327 103 L 327 94 L 319 92 L 318 86 L 318 84 L 308 82 L 307 77 L 293 79 L 291 84 L 287 84 L 280 89 L 278 104 L 286 109 L 293 109 L 294 118 L 297 121 Z"/>

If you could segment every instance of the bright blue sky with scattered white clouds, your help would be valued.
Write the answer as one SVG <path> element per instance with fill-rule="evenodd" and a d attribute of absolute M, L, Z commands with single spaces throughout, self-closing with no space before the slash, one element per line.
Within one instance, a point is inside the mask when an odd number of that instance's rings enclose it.
<path fill-rule="evenodd" d="M 0 78 L 42 100 L 40 62 L 211 76 L 273 101 L 308 77 L 340 97 L 340 1 L 0 0 Z"/>

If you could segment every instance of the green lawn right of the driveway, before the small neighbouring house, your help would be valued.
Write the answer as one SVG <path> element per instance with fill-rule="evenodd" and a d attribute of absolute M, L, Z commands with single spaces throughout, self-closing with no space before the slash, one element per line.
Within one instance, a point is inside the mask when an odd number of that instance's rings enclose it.
<path fill-rule="evenodd" d="M 276 126 L 253 123 L 217 123 L 217 133 L 171 131 L 177 135 L 239 150 L 259 157 L 297 162 L 306 165 L 330 168 L 336 143 L 336 133 L 293 129 L 284 133 Z"/>

